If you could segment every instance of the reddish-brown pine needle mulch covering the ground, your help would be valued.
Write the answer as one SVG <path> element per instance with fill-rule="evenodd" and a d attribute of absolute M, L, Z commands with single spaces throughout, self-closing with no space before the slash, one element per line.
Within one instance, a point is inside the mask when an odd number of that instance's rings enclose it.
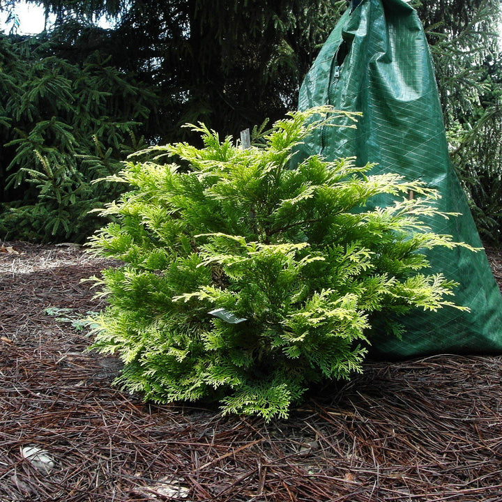
<path fill-rule="evenodd" d="M 502 252 L 489 260 L 502 282 Z M 77 321 L 102 304 L 79 280 L 104 265 L 0 248 L 0 502 L 502 500 L 501 357 L 368 363 L 268 425 L 149 406 L 111 386 L 114 358 L 84 353 Z"/>

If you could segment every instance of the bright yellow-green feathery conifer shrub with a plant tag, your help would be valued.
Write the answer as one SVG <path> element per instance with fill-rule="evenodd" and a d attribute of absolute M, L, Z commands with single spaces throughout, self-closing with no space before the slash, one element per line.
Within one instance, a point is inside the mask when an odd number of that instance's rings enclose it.
<path fill-rule="evenodd" d="M 399 336 L 411 309 L 462 308 L 447 299 L 455 283 L 423 273 L 420 250 L 464 245 L 421 222 L 436 214 L 434 190 L 367 176 L 353 159 L 291 162 L 340 114 L 293 112 L 245 150 L 191 126 L 203 148 L 127 163 L 118 181 L 130 191 L 104 211 L 116 222 L 91 239 L 124 262 L 94 278 L 109 305 L 93 319 L 93 348 L 120 356 L 123 388 L 285 417 L 312 383 L 360 372 L 375 330 Z M 395 204 L 365 208 L 382 193 Z"/>

